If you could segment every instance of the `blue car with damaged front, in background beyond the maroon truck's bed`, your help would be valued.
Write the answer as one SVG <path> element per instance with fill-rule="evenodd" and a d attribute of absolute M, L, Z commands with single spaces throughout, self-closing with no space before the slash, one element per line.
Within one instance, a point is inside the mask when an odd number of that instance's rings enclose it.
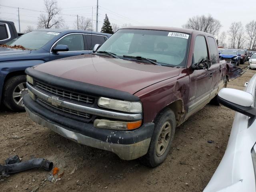
<path fill-rule="evenodd" d="M 226 60 L 228 63 L 232 63 L 235 66 L 240 64 L 240 54 L 235 49 L 225 49 L 219 55 L 220 60 Z"/>

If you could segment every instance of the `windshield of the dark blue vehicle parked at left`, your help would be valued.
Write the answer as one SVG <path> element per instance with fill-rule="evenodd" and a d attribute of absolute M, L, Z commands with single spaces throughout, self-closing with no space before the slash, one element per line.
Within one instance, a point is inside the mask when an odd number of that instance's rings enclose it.
<path fill-rule="evenodd" d="M 47 42 L 49 42 L 58 34 L 60 33 L 49 31 L 32 31 L 6 44 L 10 46 L 21 45 L 26 49 L 37 50 L 44 46 Z"/>

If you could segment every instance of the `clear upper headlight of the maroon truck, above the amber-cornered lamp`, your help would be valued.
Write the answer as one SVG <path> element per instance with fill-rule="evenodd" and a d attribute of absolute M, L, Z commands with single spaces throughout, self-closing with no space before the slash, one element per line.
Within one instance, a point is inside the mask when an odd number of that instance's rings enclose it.
<path fill-rule="evenodd" d="M 122 101 L 122 100 L 116 100 L 116 99 L 109 99 L 105 97 L 99 98 L 98 106 L 107 108 L 107 109 L 113 109 L 117 111 L 130 112 L 130 113 L 142 112 L 141 102 Z"/>

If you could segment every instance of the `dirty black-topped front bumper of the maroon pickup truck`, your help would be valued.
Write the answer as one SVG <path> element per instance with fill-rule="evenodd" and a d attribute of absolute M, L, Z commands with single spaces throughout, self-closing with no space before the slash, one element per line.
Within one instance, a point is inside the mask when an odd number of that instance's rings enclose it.
<path fill-rule="evenodd" d="M 23 98 L 26 112 L 38 124 L 87 146 L 108 150 L 123 160 L 145 155 L 154 132 L 154 123 L 142 125 L 132 131 L 95 128 L 91 123 L 60 116 L 42 107 L 27 94 Z"/>

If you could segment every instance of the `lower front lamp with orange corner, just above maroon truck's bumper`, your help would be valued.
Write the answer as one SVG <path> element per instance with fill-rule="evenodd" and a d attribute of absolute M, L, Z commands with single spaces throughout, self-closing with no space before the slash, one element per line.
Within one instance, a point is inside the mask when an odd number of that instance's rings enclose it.
<path fill-rule="evenodd" d="M 133 130 L 141 126 L 142 120 L 134 122 L 110 121 L 107 119 L 94 120 L 93 126 L 104 129 Z"/>

